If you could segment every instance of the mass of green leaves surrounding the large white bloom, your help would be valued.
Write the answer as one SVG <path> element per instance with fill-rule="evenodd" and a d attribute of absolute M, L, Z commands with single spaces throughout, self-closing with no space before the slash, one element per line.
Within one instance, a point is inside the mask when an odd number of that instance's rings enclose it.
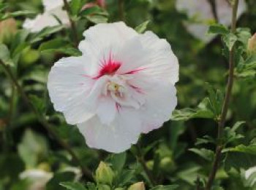
<path fill-rule="evenodd" d="M 46 87 L 53 63 L 81 55 L 72 28 L 59 23 L 31 33 L 22 28 L 23 22 L 45 11 L 42 1 L 0 0 L 0 20 L 12 17 L 18 28 L 9 40 L 1 41 L 1 63 L 10 68 L 39 115 L 72 147 L 94 178 L 81 177 L 78 162 L 42 127 L 0 66 L 0 190 L 29 189 L 31 184 L 20 179 L 20 173 L 29 169 L 53 174 L 45 182 L 45 190 L 125 190 L 138 182 L 151 190 L 190 190 L 196 189 L 197 183 L 203 189 L 215 146 L 220 142 L 221 162 L 212 189 L 255 189 L 256 173 L 244 178 L 246 170 L 256 165 L 256 55 L 248 47 L 248 40 L 256 31 L 255 1 L 246 1 L 248 10 L 238 20 L 241 28 L 236 28 L 235 33 L 230 33 L 229 26 L 210 25 L 208 33 L 218 36 L 207 44 L 189 33 L 187 25 L 196 18 L 178 12 L 174 0 L 124 0 L 123 10 L 118 4 L 121 1 L 105 2 L 106 7 L 100 7 L 94 0 L 69 1 L 78 41 L 84 39 L 83 31 L 92 25 L 113 23 L 123 17 L 138 33 L 149 30 L 167 39 L 180 66 L 178 107 L 171 121 L 141 135 L 141 155 L 136 147 L 121 154 L 89 149 L 78 128 L 69 126 L 64 116 L 54 111 Z M 85 8 L 89 3 L 95 4 Z M 227 127 L 217 140 L 232 49 L 235 80 L 225 119 Z M 144 165 L 138 155 L 143 157 Z M 105 165 L 99 168 L 100 162 Z M 157 185 L 151 182 L 145 165 Z"/>

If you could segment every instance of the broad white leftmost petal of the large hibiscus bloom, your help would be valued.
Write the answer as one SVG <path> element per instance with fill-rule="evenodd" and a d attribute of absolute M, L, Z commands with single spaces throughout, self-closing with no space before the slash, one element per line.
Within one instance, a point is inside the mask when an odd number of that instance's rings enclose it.
<path fill-rule="evenodd" d="M 51 68 L 48 90 L 53 106 L 64 113 L 69 124 L 84 122 L 94 116 L 91 102 L 87 101 L 94 80 L 86 77 L 89 58 L 62 58 Z"/>

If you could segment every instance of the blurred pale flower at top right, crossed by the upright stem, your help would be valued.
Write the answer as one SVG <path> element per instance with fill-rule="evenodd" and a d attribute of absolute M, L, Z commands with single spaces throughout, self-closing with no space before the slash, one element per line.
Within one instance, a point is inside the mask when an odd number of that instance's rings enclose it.
<path fill-rule="evenodd" d="M 232 7 L 227 0 L 216 0 L 216 10 L 219 23 L 223 25 L 231 24 Z M 216 22 L 214 12 L 208 0 L 176 0 L 176 9 L 180 12 L 186 12 L 189 21 L 184 23 L 187 30 L 197 39 L 209 42 L 214 39 L 214 35 L 206 34 L 208 26 Z M 246 2 L 239 1 L 238 14 L 239 18 L 246 11 Z"/>

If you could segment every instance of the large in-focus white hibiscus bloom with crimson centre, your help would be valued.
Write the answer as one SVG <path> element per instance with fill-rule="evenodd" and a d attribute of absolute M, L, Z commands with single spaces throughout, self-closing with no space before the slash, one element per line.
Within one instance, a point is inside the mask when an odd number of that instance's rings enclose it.
<path fill-rule="evenodd" d="M 84 32 L 80 57 L 62 58 L 48 77 L 53 106 L 86 143 L 121 152 L 157 129 L 176 107 L 178 60 L 165 39 L 124 23 Z"/>

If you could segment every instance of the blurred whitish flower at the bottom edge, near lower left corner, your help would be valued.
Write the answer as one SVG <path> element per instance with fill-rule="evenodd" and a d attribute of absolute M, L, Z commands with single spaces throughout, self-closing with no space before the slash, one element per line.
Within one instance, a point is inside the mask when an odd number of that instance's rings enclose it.
<path fill-rule="evenodd" d="M 31 169 L 20 173 L 20 179 L 27 180 L 29 190 L 44 190 L 46 183 L 53 178 L 53 173 L 45 172 L 45 170 Z"/>

